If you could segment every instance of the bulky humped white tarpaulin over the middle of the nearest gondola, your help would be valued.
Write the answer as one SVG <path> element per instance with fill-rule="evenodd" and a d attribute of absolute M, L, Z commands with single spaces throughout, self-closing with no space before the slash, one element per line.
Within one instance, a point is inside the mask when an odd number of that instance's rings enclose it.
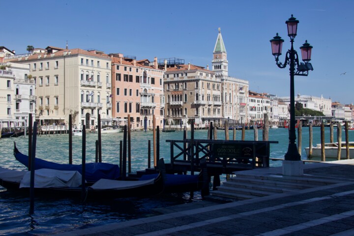
<path fill-rule="evenodd" d="M 40 169 L 35 171 L 34 187 L 79 187 L 81 174 L 78 171 L 58 171 L 52 169 Z M 30 172 L 23 177 L 20 188 L 29 188 Z"/>

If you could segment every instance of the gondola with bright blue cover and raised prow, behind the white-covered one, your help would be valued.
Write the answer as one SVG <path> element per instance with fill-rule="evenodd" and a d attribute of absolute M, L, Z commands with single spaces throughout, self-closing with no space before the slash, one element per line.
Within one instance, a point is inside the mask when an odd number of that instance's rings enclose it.
<path fill-rule="evenodd" d="M 14 155 L 16 160 L 21 162 L 26 167 L 29 166 L 28 155 L 21 153 L 16 148 L 16 143 L 14 142 Z M 81 165 L 74 164 L 59 164 L 51 161 L 42 160 L 40 158 L 35 159 L 35 170 L 39 169 L 53 169 L 61 171 L 78 171 L 82 174 Z M 110 163 L 93 162 L 86 163 L 86 180 L 89 182 L 96 182 L 101 178 L 105 179 L 118 179 L 120 177 L 119 166 Z"/>

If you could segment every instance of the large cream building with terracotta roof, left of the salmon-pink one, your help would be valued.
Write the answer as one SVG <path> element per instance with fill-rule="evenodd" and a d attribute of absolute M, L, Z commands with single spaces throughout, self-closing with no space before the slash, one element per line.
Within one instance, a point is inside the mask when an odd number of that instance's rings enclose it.
<path fill-rule="evenodd" d="M 37 52 L 38 51 L 38 52 Z M 112 124 L 111 59 L 97 50 L 66 49 L 48 46 L 45 52 L 24 55 L 12 62 L 28 64 L 36 87 L 36 119 L 43 124 Z M 108 100 L 107 100 L 108 96 Z"/>

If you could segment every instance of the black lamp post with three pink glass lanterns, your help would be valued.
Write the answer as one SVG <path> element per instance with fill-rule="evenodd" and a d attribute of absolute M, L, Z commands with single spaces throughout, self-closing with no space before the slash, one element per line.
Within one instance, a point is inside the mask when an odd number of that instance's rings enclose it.
<path fill-rule="evenodd" d="M 302 60 L 305 63 L 299 63 L 297 52 L 294 50 L 293 43 L 296 36 L 297 24 L 299 23 L 295 17 L 289 18 L 285 22 L 288 26 L 288 36 L 290 37 L 291 49 L 288 50 L 285 57 L 285 62 L 279 62 L 279 56 L 281 55 L 282 45 L 284 39 L 282 39 L 278 33 L 273 39 L 270 40 L 272 54 L 275 57 L 276 64 L 279 68 L 285 68 L 288 64 L 290 66 L 290 131 L 289 131 L 289 146 L 288 152 L 285 154 L 286 161 L 300 161 L 301 156 L 297 152 L 296 147 L 296 134 L 295 134 L 295 93 L 294 93 L 294 76 L 302 75 L 307 76 L 309 70 L 313 70 L 311 63 L 311 50 L 312 46 L 306 42 L 300 47 Z M 295 65 L 297 65 L 295 72 Z"/>

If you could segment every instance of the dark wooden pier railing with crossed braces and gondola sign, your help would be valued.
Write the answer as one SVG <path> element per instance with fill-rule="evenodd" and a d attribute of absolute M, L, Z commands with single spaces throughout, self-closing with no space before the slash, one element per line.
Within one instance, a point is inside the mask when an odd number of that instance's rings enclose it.
<path fill-rule="evenodd" d="M 278 141 L 229 140 L 166 140 L 170 143 L 172 169 L 190 166 L 190 171 L 201 169 L 206 160 L 208 168 L 220 169 L 223 174 L 238 170 L 269 167 L 270 144 Z M 175 148 L 179 150 L 175 154 Z M 189 168 L 188 168 L 189 169 Z"/>

